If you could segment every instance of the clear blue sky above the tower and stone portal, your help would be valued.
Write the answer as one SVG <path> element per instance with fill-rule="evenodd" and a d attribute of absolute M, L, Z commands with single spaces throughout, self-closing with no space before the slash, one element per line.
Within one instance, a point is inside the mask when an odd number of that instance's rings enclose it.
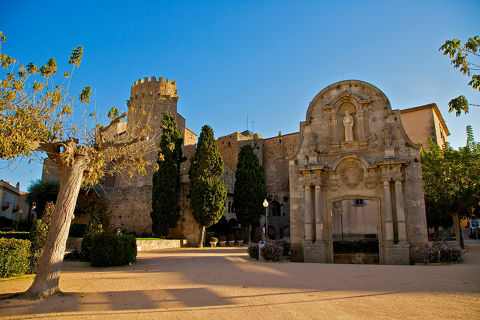
<path fill-rule="evenodd" d="M 369 82 L 393 109 L 436 103 L 454 147 L 480 109 L 457 118 L 448 101 L 480 92 L 438 48 L 479 35 L 479 1 L 6 1 L 2 53 L 23 64 L 55 57 L 59 72 L 83 46 L 70 93 L 91 86 L 89 108 L 126 110 L 140 78 L 177 81 L 178 112 L 216 137 L 247 128 L 264 138 L 297 132 L 309 102 L 343 79 Z M 3 76 L 4 73 L 2 73 Z M 60 77 L 58 77 L 60 78 Z M 26 190 L 41 166 L 1 163 L 0 178 Z"/>

